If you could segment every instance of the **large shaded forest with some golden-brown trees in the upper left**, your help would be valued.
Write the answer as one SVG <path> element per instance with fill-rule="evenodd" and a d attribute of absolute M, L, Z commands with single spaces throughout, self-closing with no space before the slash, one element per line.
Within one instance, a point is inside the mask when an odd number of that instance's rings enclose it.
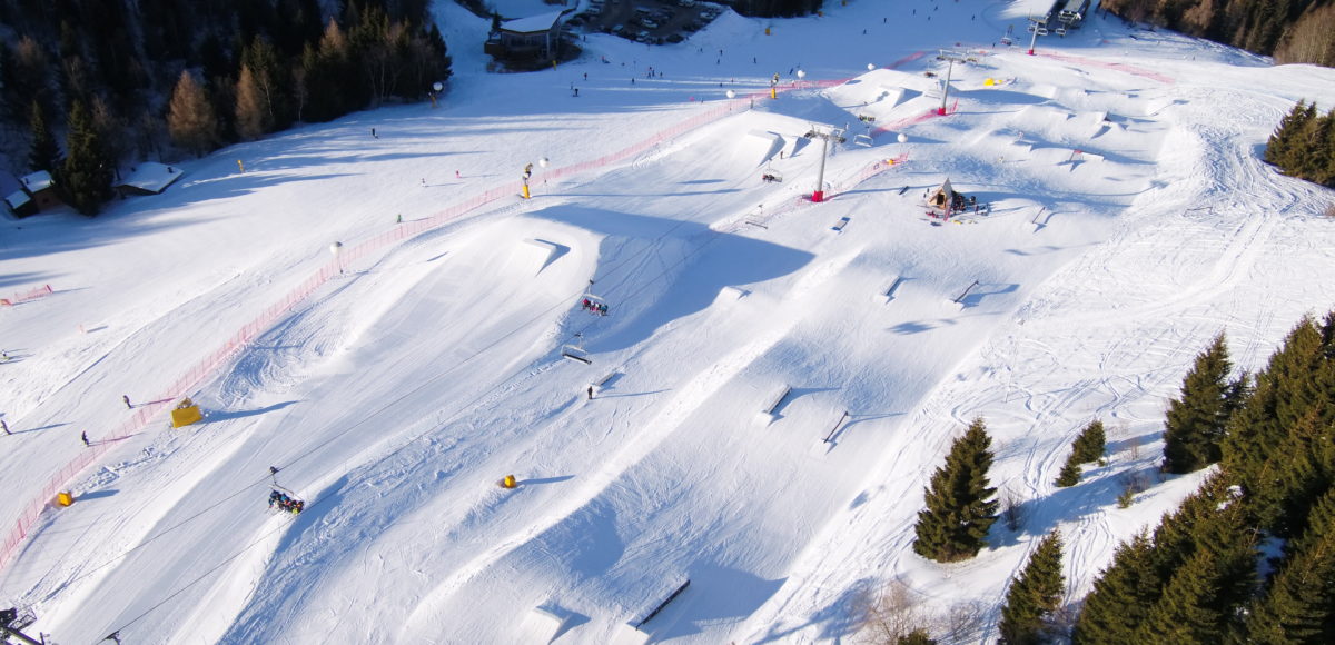
<path fill-rule="evenodd" d="M 16 172 L 92 215 L 129 159 L 422 100 L 450 76 L 427 0 L 0 0 L 0 127 Z M 64 132 L 64 146 L 56 132 Z M 27 147 L 27 155 L 23 147 Z"/>

